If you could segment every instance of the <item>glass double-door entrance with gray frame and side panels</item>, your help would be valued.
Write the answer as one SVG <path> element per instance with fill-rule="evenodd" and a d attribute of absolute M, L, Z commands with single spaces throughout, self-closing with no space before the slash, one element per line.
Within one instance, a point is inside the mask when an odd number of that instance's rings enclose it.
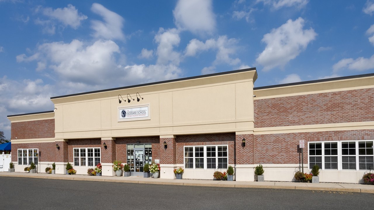
<path fill-rule="evenodd" d="M 152 164 L 152 144 L 127 144 L 126 152 L 130 175 L 143 176 L 144 164 Z"/>

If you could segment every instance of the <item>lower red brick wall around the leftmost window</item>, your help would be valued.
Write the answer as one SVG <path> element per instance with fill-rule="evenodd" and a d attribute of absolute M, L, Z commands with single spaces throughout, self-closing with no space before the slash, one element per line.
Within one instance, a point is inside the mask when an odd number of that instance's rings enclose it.
<path fill-rule="evenodd" d="M 39 149 L 39 162 L 54 162 L 56 144 L 55 142 L 12 144 L 12 162 L 17 162 L 18 149 Z"/>

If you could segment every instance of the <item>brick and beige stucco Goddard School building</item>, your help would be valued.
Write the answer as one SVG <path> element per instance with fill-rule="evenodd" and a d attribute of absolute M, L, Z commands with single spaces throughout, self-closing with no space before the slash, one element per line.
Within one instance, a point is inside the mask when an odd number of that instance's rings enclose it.
<path fill-rule="evenodd" d="M 156 160 L 168 179 L 176 167 L 213 179 L 232 165 L 236 181 L 254 181 L 258 164 L 266 181 L 318 164 L 321 182 L 362 182 L 374 168 L 374 74 L 254 88 L 256 79 L 251 68 L 52 97 L 53 111 L 8 116 L 12 162 L 16 172 L 55 162 L 61 174 L 68 162 L 78 174 L 101 163 L 114 176 L 120 160 L 136 176 Z"/>

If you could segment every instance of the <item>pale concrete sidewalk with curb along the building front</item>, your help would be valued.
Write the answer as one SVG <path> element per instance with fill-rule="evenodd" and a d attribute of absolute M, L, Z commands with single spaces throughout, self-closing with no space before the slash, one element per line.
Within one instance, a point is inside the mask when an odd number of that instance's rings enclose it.
<path fill-rule="evenodd" d="M 0 176 L 26 177 L 41 179 L 66 179 L 80 181 L 125 182 L 140 184 L 184 185 L 204 187 L 240 187 L 240 188 L 268 188 L 268 189 L 306 189 L 315 191 L 340 191 L 340 192 L 365 192 L 374 193 L 374 185 L 341 184 L 341 183 L 305 183 L 305 182 L 250 182 L 250 181 L 216 181 L 196 179 L 153 179 L 140 176 L 88 176 L 88 175 L 63 175 L 47 173 L 22 173 L 0 172 Z"/>

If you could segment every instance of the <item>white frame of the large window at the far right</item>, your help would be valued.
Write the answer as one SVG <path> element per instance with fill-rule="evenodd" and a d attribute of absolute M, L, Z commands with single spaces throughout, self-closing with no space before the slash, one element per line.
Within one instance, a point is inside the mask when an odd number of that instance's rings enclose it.
<path fill-rule="evenodd" d="M 310 143 L 322 143 L 322 169 L 321 170 L 347 170 L 347 171 L 354 171 L 354 170 L 361 170 L 361 171 L 366 171 L 367 169 L 359 169 L 359 157 L 360 156 L 373 156 L 373 158 L 374 158 L 374 152 L 373 152 L 373 155 L 359 155 L 359 148 L 358 148 L 358 142 L 373 142 L 373 145 L 374 145 L 374 140 L 350 140 L 350 141 L 310 141 L 310 142 L 308 142 L 308 150 L 307 150 L 307 152 L 308 152 L 308 169 L 310 170 L 311 168 L 309 168 L 309 157 L 310 157 L 310 155 L 309 155 L 309 144 Z M 325 169 L 325 142 L 330 142 L 330 143 L 335 143 L 335 142 L 337 142 L 338 143 L 338 169 Z M 341 150 L 342 150 L 342 147 L 341 147 L 341 144 L 343 143 L 343 142 L 355 142 L 355 150 L 356 150 L 356 155 L 355 155 L 355 157 L 356 157 L 356 169 L 343 169 L 343 166 L 342 166 L 342 152 L 341 152 Z M 373 150 L 374 150 L 374 148 L 373 148 Z M 346 155 L 344 155 L 344 156 L 346 156 Z M 349 156 L 351 156 L 351 155 L 349 155 Z"/>

